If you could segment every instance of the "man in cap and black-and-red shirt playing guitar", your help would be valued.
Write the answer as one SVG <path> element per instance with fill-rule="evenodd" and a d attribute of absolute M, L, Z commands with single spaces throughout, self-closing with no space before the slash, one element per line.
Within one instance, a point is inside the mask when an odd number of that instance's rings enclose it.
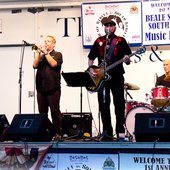
<path fill-rule="evenodd" d="M 98 59 L 99 65 L 101 65 L 103 60 L 106 61 L 104 63 L 107 67 L 107 65 L 113 64 L 125 56 L 126 60 L 124 62 L 126 64 L 130 64 L 130 58 L 128 55 L 132 53 L 131 49 L 123 37 L 115 35 L 116 23 L 109 16 L 104 17 L 101 20 L 101 24 L 104 25 L 106 35 L 98 37 L 95 40 L 88 54 L 89 68 L 93 65 L 95 59 Z M 113 103 L 115 106 L 115 132 L 117 134 L 117 138 L 119 138 L 120 133 L 125 134 L 124 73 L 123 63 L 120 63 L 109 71 L 111 79 L 109 81 L 105 81 L 103 86 L 98 90 L 99 112 L 101 114 L 103 124 L 101 140 L 103 141 L 113 140 L 113 128 L 110 114 L 110 92 L 112 93 Z M 93 71 L 93 69 L 90 69 L 90 74 L 94 77 L 96 76 L 96 72 Z"/>

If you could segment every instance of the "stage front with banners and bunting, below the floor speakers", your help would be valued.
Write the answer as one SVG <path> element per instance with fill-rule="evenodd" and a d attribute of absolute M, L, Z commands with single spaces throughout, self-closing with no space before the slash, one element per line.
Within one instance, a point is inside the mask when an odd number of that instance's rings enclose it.
<path fill-rule="evenodd" d="M 170 142 L 1 142 L 0 169 L 169 170 Z"/>

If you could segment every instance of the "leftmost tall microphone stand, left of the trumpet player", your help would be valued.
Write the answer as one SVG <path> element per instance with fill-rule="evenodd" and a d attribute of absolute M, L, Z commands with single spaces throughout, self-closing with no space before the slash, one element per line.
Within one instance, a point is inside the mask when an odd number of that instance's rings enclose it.
<path fill-rule="evenodd" d="M 22 42 L 22 47 L 21 47 L 21 56 L 20 56 L 20 65 L 19 65 L 19 114 L 21 114 L 21 104 L 22 104 L 22 65 L 23 65 L 23 59 L 24 59 L 24 51 L 25 51 L 25 46 L 27 44 L 23 40 Z"/>

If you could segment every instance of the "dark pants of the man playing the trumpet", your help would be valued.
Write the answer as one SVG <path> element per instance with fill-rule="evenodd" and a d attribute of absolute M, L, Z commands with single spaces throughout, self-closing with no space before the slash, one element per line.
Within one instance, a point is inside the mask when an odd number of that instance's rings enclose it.
<path fill-rule="evenodd" d="M 48 114 L 48 107 L 51 111 L 52 122 L 56 133 L 62 134 L 62 113 L 60 111 L 61 91 L 37 92 L 37 102 L 39 113 Z"/>

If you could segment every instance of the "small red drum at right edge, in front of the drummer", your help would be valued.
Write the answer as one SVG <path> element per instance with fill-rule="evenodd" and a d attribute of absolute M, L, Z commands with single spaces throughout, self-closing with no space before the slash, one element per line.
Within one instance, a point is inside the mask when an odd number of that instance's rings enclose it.
<path fill-rule="evenodd" d="M 151 90 L 151 103 L 155 107 L 161 107 L 167 104 L 169 98 L 169 88 L 164 86 L 157 86 Z"/>

